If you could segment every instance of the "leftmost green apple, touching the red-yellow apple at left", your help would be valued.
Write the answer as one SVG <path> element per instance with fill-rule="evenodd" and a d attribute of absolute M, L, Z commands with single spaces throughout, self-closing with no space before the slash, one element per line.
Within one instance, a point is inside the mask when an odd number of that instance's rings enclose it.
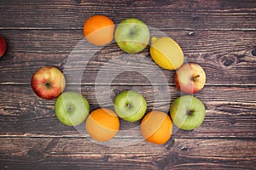
<path fill-rule="evenodd" d="M 87 99 L 76 92 L 65 92 L 55 102 L 55 114 L 59 121 L 67 126 L 77 126 L 84 122 L 89 111 Z"/>

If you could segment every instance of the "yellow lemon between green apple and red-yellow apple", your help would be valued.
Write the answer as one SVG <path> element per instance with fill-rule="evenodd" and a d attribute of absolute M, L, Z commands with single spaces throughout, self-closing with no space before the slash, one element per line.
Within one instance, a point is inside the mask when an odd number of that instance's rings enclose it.
<path fill-rule="evenodd" d="M 167 70 L 183 65 L 183 50 L 170 37 L 152 37 L 150 55 L 157 65 Z"/>

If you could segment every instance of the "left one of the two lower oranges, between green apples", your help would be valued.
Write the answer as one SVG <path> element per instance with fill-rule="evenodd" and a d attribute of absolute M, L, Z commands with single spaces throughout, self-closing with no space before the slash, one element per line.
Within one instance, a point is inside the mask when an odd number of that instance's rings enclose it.
<path fill-rule="evenodd" d="M 85 129 L 92 139 L 108 141 L 119 131 L 119 118 L 109 109 L 97 109 L 88 116 Z"/>

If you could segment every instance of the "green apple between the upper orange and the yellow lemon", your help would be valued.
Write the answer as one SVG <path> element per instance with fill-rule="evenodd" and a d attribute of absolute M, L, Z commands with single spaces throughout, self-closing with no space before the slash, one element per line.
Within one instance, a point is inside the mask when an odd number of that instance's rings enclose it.
<path fill-rule="evenodd" d="M 148 26 L 134 18 L 121 21 L 114 31 L 115 42 L 119 48 L 129 54 L 143 51 L 148 45 L 149 38 Z"/>

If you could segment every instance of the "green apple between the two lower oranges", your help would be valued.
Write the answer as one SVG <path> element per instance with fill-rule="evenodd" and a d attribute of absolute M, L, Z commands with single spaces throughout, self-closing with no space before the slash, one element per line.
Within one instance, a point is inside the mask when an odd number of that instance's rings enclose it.
<path fill-rule="evenodd" d="M 125 90 L 114 99 L 114 111 L 128 122 L 140 120 L 147 111 L 147 102 L 142 94 L 133 90 Z"/>

